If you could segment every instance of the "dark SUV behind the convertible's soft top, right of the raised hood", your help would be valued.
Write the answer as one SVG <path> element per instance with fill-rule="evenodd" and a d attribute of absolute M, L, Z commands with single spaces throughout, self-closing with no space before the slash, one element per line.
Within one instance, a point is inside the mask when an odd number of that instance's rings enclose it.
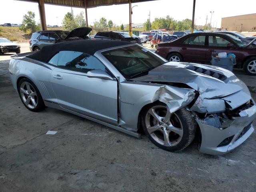
<path fill-rule="evenodd" d="M 138 36 L 133 35 L 132 37 L 126 32 L 114 32 L 114 31 L 102 31 L 98 32 L 94 38 L 98 39 L 108 39 L 108 40 L 119 40 L 128 41 L 132 43 L 142 44 Z"/>

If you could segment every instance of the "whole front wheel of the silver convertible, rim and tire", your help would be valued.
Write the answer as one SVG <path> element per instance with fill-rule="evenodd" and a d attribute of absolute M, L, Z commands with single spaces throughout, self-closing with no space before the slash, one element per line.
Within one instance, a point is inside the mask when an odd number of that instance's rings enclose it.
<path fill-rule="evenodd" d="M 142 126 L 148 138 L 159 148 L 180 151 L 195 137 L 196 126 L 185 108 L 170 113 L 161 102 L 146 108 L 142 115 Z"/>

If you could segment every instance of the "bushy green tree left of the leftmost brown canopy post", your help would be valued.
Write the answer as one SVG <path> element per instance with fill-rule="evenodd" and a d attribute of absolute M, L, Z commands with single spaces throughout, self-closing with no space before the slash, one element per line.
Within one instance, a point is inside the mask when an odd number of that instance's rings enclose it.
<path fill-rule="evenodd" d="M 40 30 L 40 27 L 41 27 L 40 25 L 36 24 L 35 13 L 32 11 L 28 11 L 28 13 L 23 16 L 22 26 L 20 26 L 19 29 L 24 32 L 27 32 L 27 30 L 30 30 L 31 33 L 34 33 Z"/>

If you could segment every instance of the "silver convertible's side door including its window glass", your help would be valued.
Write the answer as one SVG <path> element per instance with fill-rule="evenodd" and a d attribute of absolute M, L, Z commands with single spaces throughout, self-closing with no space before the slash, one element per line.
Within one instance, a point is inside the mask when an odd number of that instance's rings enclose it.
<path fill-rule="evenodd" d="M 49 64 L 55 65 L 51 85 L 63 108 L 117 124 L 117 80 L 92 78 L 93 69 L 106 71 L 100 60 L 89 54 L 61 51 Z"/>

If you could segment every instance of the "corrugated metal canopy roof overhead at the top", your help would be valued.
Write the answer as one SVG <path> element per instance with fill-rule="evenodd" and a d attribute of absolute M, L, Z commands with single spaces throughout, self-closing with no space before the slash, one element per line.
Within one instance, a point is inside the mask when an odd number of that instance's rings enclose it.
<path fill-rule="evenodd" d="M 38 2 L 38 0 L 17 0 L 17 1 Z M 131 0 L 132 3 L 145 2 L 145 1 L 154 1 L 154 0 Z M 84 0 L 44 0 L 44 3 L 84 8 Z M 114 4 L 126 4 L 126 3 L 129 3 L 129 0 L 87 0 L 87 8 L 114 5 Z"/>

